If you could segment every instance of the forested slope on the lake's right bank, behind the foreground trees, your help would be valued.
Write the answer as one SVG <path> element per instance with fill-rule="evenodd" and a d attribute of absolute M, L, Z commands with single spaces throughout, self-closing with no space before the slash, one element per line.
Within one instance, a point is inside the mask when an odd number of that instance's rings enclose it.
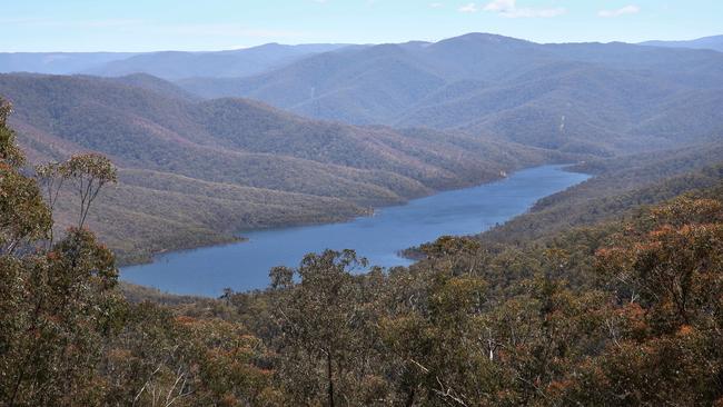
<path fill-rule="evenodd" d="M 528 214 L 481 237 L 505 242 L 546 239 L 571 227 L 620 218 L 641 205 L 713 187 L 723 177 L 721 162 L 721 143 L 585 162 L 573 169 L 595 177 L 541 199 Z"/>

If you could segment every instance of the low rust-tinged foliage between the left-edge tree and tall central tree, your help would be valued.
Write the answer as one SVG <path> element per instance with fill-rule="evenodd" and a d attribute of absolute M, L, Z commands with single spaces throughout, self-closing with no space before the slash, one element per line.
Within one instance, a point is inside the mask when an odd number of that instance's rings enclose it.
<path fill-rule="evenodd" d="M 103 404 L 267 405 L 278 396 L 271 373 L 256 366 L 264 358 L 264 345 L 239 324 L 135 305 L 100 364 Z"/>

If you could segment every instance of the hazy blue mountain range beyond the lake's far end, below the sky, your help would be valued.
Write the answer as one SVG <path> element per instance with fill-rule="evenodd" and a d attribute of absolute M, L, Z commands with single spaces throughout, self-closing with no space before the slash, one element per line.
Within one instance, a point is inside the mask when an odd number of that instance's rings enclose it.
<path fill-rule="evenodd" d="M 539 44 L 472 33 L 178 83 L 204 97 L 249 97 L 308 117 L 460 129 L 604 156 L 719 136 L 721 67 L 723 53 L 711 50 Z"/>

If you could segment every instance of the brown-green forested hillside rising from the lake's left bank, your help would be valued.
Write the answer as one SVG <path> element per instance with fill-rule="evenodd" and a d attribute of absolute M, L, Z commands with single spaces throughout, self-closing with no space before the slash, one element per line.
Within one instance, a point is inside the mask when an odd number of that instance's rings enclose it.
<path fill-rule="evenodd" d="M 0 76 L 33 162 L 107 155 L 120 182 L 91 225 L 121 258 L 324 222 L 570 157 L 485 137 L 361 128 L 244 99 L 197 101 L 158 78 Z M 60 207 L 59 220 L 66 219 Z M 65 224 L 63 224 L 65 225 Z"/>

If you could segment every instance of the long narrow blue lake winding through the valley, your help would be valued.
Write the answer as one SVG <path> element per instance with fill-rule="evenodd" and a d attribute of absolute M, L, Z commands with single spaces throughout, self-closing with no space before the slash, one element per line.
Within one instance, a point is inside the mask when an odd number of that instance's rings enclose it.
<path fill-rule="evenodd" d="M 525 212 L 538 199 L 588 176 L 544 166 L 501 181 L 415 199 L 345 224 L 255 230 L 247 242 L 158 256 L 152 264 L 126 267 L 121 279 L 174 294 L 218 296 L 224 288 L 266 288 L 275 266 L 296 266 L 304 255 L 355 249 L 370 265 L 406 266 L 397 251 L 443 235 L 473 235 Z"/>

